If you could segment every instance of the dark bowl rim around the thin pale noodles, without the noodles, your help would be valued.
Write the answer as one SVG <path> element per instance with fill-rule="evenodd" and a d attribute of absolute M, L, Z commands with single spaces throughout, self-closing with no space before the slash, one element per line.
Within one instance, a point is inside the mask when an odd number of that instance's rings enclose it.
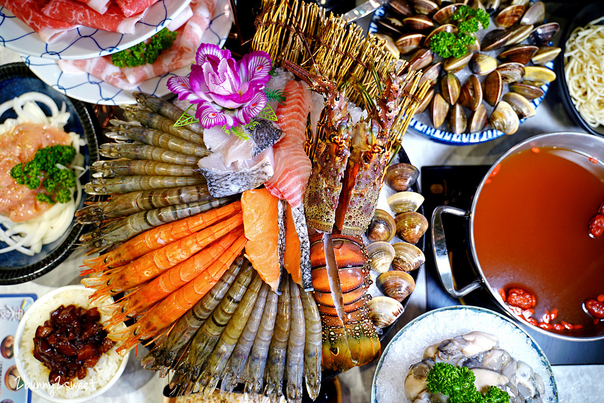
<path fill-rule="evenodd" d="M 591 127 L 589 124 L 586 123 L 585 120 L 583 120 L 583 118 L 579 114 L 579 111 L 577 111 L 577 109 L 574 107 L 573 100 L 568 92 L 566 76 L 564 74 L 564 53 L 566 51 L 566 42 L 568 40 L 568 37 L 571 33 L 573 33 L 575 28 L 584 27 L 591 21 L 594 21 L 594 19 L 600 18 L 601 16 L 604 16 L 604 2 L 602 0 L 597 0 L 591 2 L 583 8 L 580 8 L 579 12 L 572 19 L 570 19 L 569 23 L 564 28 L 564 33 L 562 33 L 562 37 L 560 39 L 559 47 L 562 49 L 562 51 L 557 57 L 556 81 L 558 82 L 558 85 L 560 87 L 560 94 L 562 98 L 562 103 L 564 104 L 564 108 L 567 110 L 574 123 L 583 127 L 583 129 L 585 129 L 585 131 L 588 133 L 604 136 L 604 126 L 600 125 L 598 127 Z M 600 22 L 600 24 L 603 23 L 604 22 Z"/>

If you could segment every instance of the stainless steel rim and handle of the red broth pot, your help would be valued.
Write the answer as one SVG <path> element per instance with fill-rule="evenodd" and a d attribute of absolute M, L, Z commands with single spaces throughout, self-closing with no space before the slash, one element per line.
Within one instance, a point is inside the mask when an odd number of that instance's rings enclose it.
<path fill-rule="evenodd" d="M 602 340 L 604 339 L 604 326 L 602 323 L 598 324 L 591 329 L 585 329 L 585 331 L 573 331 L 573 332 L 551 332 L 549 330 L 542 329 L 541 327 L 535 326 L 534 324 L 530 324 L 527 321 L 520 318 L 515 314 L 513 308 L 506 304 L 503 297 L 500 295 L 500 290 L 495 288 L 492 284 L 489 283 L 487 276 L 485 275 L 485 271 L 483 267 L 481 267 L 481 262 L 478 259 L 477 248 L 476 248 L 476 240 L 475 240 L 475 216 L 477 210 L 477 204 L 480 201 L 481 192 L 483 192 L 484 185 L 488 182 L 489 176 L 492 175 L 493 171 L 500 167 L 502 161 L 509 158 L 511 155 L 516 155 L 522 151 L 535 149 L 533 147 L 541 148 L 541 147 L 558 147 L 559 149 L 572 150 L 574 152 L 578 152 L 582 155 L 590 157 L 593 162 L 596 161 L 597 164 L 602 164 L 604 161 L 604 138 L 597 137 L 589 134 L 581 134 L 575 132 L 557 132 L 551 134 L 542 134 L 532 138 L 528 138 L 527 140 L 522 141 L 516 146 L 512 147 L 506 153 L 504 153 L 492 167 L 490 167 L 487 174 L 484 176 L 480 185 L 478 185 L 477 192 L 475 193 L 474 200 L 472 201 L 471 210 L 462 210 L 456 207 L 450 207 L 447 205 L 442 205 L 437 207 L 432 214 L 432 249 L 434 251 L 434 260 L 437 268 L 437 272 L 440 277 L 440 281 L 442 282 L 445 291 L 448 292 L 451 297 L 460 298 L 464 295 L 469 294 L 478 288 L 485 289 L 493 300 L 496 301 L 498 305 L 500 305 L 501 309 L 510 317 L 515 318 L 516 320 L 524 323 L 526 326 L 531 327 L 532 329 L 540 332 L 541 334 L 548 335 L 551 337 L 561 338 L 563 340 L 570 341 L 594 341 L 594 340 Z M 595 162 L 594 162 L 595 163 Z M 598 167 L 600 169 L 600 167 Z M 602 169 L 604 172 L 604 169 Z M 495 171 L 496 173 L 496 171 Z M 601 182 L 604 182 L 604 174 L 599 174 L 597 177 Z M 572 184 L 568 184 L 568 189 L 570 191 L 573 190 Z M 596 213 L 596 211 L 594 211 Z M 472 281 L 471 283 L 460 286 L 457 288 L 455 285 L 455 279 L 452 273 L 451 264 L 449 262 L 448 250 L 445 241 L 445 230 L 443 228 L 442 222 L 442 214 L 452 214 L 454 216 L 459 216 L 461 218 L 467 219 L 467 241 L 466 242 L 469 250 L 471 252 L 472 260 L 475 267 L 475 274 L 477 275 L 477 279 Z M 587 223 L 585 224 L 585 228 L 587 228 Z M 602 268 L 604 270 L 604 267 Z M 507 276 L 507 273 L 505 274 Z M 511 276 L 511 274 L 510 274 Z M 604 292 L 604 284 L 602 285 Z"/>

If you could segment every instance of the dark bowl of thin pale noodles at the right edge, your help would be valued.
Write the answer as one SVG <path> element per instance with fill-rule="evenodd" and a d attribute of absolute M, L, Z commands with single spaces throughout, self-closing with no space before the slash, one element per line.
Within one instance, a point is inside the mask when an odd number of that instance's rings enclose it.
<path fill-rule="evenodd" d="M 604 136 L 604 2 L 581 8 L 559 46 L 556 74 L 564 107 L 587 132 Z"/>

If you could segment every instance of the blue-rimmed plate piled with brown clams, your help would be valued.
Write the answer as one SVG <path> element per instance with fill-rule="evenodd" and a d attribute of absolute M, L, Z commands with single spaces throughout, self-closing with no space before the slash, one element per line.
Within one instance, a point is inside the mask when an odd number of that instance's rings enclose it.
<path fill-rule="evenodd" d="M 479 29 L 463 56 L 443 58 L 430 48 L 441 33 L 458 33 L 453 16 L 467 5 L 486 11 L 490 24 Z M 392 0 L 374 13 L 369 31 L 410 69 L 422 70 L 432 88 L 410 129 L 445 144 L 475 144 L 514 134 L 535 115 L 556 79 L 551 46 L 557 22 L 545 22 L 543 2 L 474 0 L 440 5 L 431 0 Z"/>

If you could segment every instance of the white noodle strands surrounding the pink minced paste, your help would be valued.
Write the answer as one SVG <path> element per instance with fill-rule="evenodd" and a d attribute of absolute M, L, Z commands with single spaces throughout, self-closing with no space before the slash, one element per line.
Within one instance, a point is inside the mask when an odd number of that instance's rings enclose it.
<path fill-rule="evenodd" d="M 51 115 L 45 115 L 36 102 L 47 105 Z M 14 110 L 17 118 L 7 119 L 0 124 L 0 133 L 10 131 L 26 121 L 35 124 L 50 124 L 63 130 L 69 120 L 69 112 L 66 111 L 65 103 L 59 109 L 52 98 L 39 92 L 26 92 L 19 97 L 2 103 L 0 105 L 0 115 L 9 109 Z M 71 199 L 68 203 L 57 203 L 40 216 L 25 222 L 15 223 L 0 215 L 0 224 L 7 228 L 5 230 L 0 227 L 0 240 L 8 245 L 0 249 L 0 253 L 16 250 L 28 256 L 33 256 L 42 250 L 42 245 L 53 243 L 59 239 L 71 225 L 76 206 L 82 200 L 82 184 L 80 184 L 79 178 L 87 169 L 82 167 L 85 160 L 80 153 L 80 146 L 84 146 L 85 141 L 74 132 L 69 132 L 69 136 L 71 137 L 72 146 L 76 149 L 76 157 L 71 166 L 68 167 L 76 171 L 78 179 L 76 187 L 72 189 L 72 192 L 76 192 L 76 200 Z M 57 164 L 57 166 L 67 168 L 60 166 L 60 164 Z"/>

